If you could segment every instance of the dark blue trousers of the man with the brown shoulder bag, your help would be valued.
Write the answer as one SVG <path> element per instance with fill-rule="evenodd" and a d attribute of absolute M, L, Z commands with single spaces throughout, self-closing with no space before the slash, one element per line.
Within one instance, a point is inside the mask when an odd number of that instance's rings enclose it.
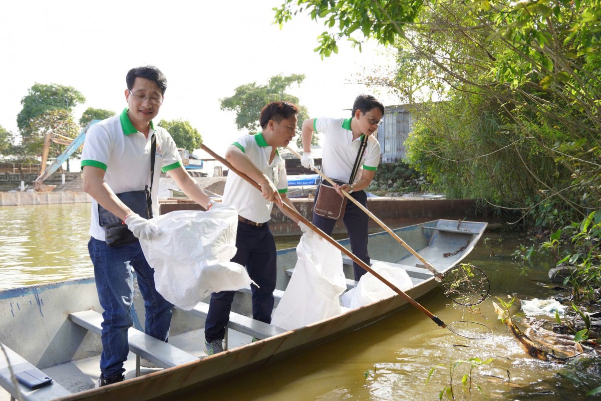
<path fill-rule="evenodd" d="M 319 194 L 319 186 L 317 186 L 315 193 L 315 201 L 317 201 L 317 194 Z M 367 194 L 365 194 L 365 191 L 356 191 L 350 194 L 350 196 L 359 201 L 359 203 L 361 203 L 363 206 L 367 207 Z M 315 201 L 313 203 L 314 205 Z M 359 209 L 359 206 L 347 199 L 346 209 L 344 209 L 342 221 L 344 223 L 344 227 L 346 227 L 347 234 L 349 234 L 350 249 L 353 251 L 353 254 L 355 254 L 356 257 L 367 263 L 368 266 L 370 265 L 370 256 L 367 253 L 369 220 L 370 218 L 367 213 Z M 332 235 L 336 220 L 316 215 L 315 212 L 313 212 L 313 224 L 317 225 L 317 227 L 324 233 Z M 367 273 L 364 268 L 357 265 L 355 262 L 353 262 L 353 271 L 355 271 L 355 280 L 357 281 L 362 275 Z"/>

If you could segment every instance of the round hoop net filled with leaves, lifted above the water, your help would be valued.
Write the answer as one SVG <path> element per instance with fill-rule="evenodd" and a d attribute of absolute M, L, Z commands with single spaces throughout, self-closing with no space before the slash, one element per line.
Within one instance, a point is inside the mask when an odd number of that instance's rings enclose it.
<path fill-rule="evenodd" d="M 445 295 L 459 305 L 478 305 L 489 295 L 490 281 L 483 271 L 469 263 L 461 263 L 442 278 Z"/>

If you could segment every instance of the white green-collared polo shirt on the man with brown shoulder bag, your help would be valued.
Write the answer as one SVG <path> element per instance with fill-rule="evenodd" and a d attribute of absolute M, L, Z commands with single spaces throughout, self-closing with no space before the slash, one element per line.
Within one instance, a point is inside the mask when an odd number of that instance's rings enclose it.
<path fill-rule="evenodd" d="M 313 120 L 313 130 L 324 134 L 322 171 L 334 180 L 349 182 L 363 135 L 353 141 L 352 118 L 320 117 Z M 380 164 L 380 143 L 373 135 L 367 137 L 367 147 L 359 161 L 353 183 L 361 179 L 363 170 L 377 170 Z"/>

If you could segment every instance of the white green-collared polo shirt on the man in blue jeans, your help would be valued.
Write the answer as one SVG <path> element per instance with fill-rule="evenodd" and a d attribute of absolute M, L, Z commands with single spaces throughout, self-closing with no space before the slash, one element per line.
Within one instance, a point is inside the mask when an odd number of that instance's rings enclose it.
<path fill-rule="evenodd" d="M 152 135 L 156 136 L 154 180 L 152 188 L 153 215 L 159 215 L 160 171 L 169 171 L 182 165 L 177 146 L 162 127 L 150 122 L 148 138 L 138 132 L 127 115 L 121 115 L 94 124 L 85 134 L 84 150 L 81 153 L 81 168 L 93 166 L 105 170 L 105 182 L 115 194 L 139 191 L 150 186 L 150 148 Z M 105 240 L 105 229 L 98 224 L 98 203 L 92 199 L 90 235 Z"/>

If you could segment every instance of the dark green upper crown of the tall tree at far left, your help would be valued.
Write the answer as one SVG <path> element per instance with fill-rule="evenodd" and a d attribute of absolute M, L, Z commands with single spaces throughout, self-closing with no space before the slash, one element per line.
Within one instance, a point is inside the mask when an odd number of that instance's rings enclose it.
<path fill-rule="evenodd" d="M 17 126 L 23 140 L 29 135 L 28 125 L 35 117 L 50 110 L 71 112 L 75 106 L 84 102 L 84 95 L 73 87 L 57 84 L 44 85 L 36 82 L 21 100 L 23 108 L 17 115 Z"/>

